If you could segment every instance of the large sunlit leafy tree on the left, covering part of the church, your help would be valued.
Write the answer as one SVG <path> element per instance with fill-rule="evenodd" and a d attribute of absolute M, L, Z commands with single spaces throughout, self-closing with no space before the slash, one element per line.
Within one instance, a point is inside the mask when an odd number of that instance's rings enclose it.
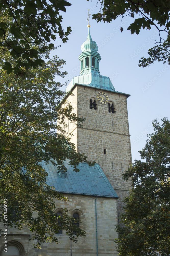
<path fill-rule="evenodd" d="M 55 233 L 66 230 L 70 239 L 84 236 L 85 232 L 75 225 L 75 220 L 65 210 L 58 217 L 54 198 L 68 200 L 46 184 L 47 173 L 42 161 L 58 165 L 65 171 L 63 161 L 67 158 L 77 172 L 80 162 L 87 162 L 86 156 L 75 151 L 75 146 L 65 136 L 61 116 L 74 123 L 82 119 L 72 113 L 71 105 L 61 107 L 66 93 L 55 81 L 55 74 L 61 72 L 65 64 L 57 56 L 49 59 L 39 68 L 29 68 L 27 77 L 18 77 L 0 70 L 0 191 L 1 199 L 8 198 L 8 223 L 22 229 L 25 225 L 35 233 L 38 242 L 55 241 Z M 9 51 L 3 60 L 15 65 Z M 93 164 L 88 162 L 89 165 Z M 1 200 L 0 218 L 4 222 L 4 201 Z M 76 235 L 74 235 L 76 233 Z"/>

